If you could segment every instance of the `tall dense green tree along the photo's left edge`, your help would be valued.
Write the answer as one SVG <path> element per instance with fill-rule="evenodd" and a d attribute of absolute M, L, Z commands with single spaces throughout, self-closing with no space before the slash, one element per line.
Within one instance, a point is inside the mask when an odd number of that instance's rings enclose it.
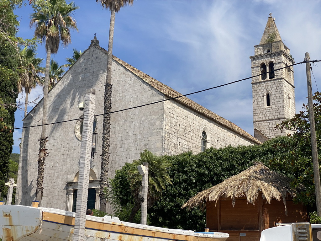
<path fill-rule="evenodd" d="M 13 145 L 15 103 L 18 96 L 18 65 L 15 33 L 18 21 L 13 13 L 11 1 L 0 1 L 0 192 L 5 197 L 4 183 L 9 170 L 9 159 Z"/>

